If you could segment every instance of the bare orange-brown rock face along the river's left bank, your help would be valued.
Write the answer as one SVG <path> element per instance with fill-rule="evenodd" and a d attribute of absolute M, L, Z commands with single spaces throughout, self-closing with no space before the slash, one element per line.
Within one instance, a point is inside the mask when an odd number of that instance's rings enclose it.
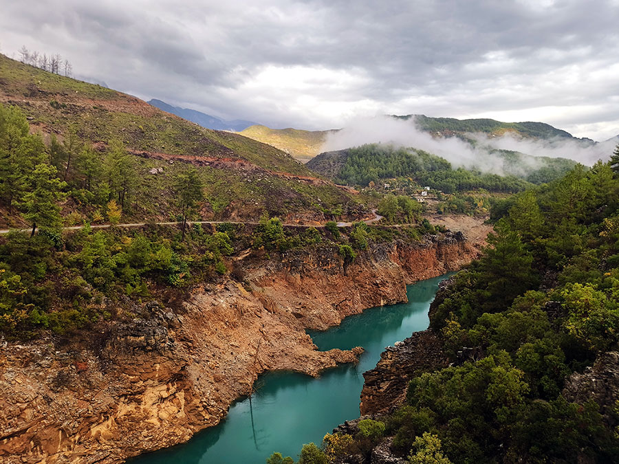
<path fill-rule="evenodd" d="M 294 251 L 267 263 L 242 254 L 235 264 L 245 285 L 224 280 L 180 300 L 162 296 L 163 305 L 136 309 L 134 320 L 82 339 L 3 344 L 0 461 L 120 463 L 186 441 L 216 425 L 260 373 L 318 375 L 362 351 L 316 351 L 305 329 L 406 301 L 404 284 L 478 254 L 457 234 L 374 246 L 346 272 L 336 250 Z M 424 337 L 417 344 L 430 340 Z M 375 407 L 371 401 L 366 408 Z"/>

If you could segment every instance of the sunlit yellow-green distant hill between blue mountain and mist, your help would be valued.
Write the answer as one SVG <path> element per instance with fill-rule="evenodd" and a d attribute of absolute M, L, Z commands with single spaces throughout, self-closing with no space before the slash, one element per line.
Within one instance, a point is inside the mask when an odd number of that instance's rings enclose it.
<path fill-rule="evenodd" d="M 303 131 L 301 129 L 270 129 L 267 126 L 250 126 L 241 135 L 258 140 L 289 153 L 300 162 L 307 163 L 321 153 L 327 135 L 332 131 Z"/>

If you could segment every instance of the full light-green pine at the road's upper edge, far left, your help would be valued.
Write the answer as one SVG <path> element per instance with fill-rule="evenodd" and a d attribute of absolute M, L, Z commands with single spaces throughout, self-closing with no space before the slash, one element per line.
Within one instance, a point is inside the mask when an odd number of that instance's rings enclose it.
<path fill-rule="evenodd" d="M 23 196 L 22 208 L 26 221 L 32 223 L 32 234 L 37 227 L 56 228 L 61 225 L 60 206 L 63 188 L 67 184 L 58 177 L 50 164 L 37 164 L 30 176 L 30 191 Z"/>

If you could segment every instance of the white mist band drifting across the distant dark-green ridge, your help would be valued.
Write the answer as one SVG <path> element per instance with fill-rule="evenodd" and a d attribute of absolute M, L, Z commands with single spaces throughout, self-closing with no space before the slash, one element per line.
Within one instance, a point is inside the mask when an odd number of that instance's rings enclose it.
<path fill-rule="evenodd" d="M 358 119 L 329 133 L 323 151 L 372 143 L 417 148 L 443 157 L 456 167 L 503 174 L 503 160 L 497 159 L 496 151 L 531 155 L 526 159 L 533 164 L 534 157 L 561 157 L 591 166 L 598 159 L 609 159 L 617 137 L 605 142 L 579 139 L 541 122 L 384 115 Z"/>

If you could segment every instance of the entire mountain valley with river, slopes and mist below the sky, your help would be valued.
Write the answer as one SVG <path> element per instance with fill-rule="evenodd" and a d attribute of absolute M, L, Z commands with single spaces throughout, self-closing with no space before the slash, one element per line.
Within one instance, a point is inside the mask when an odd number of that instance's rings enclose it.
<path fill-rule="evenodd" d="M 270 129 L 37 63 L 0 54 L 0 461 L 616 461 L 614 139 Z"/>

